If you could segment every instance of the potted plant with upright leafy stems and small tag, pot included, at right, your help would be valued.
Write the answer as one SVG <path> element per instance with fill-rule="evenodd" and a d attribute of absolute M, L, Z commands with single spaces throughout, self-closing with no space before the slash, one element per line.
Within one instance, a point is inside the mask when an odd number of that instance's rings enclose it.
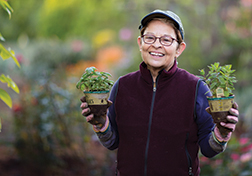
<path fill-rule="evenodd" d="M 230 129 L 222 127 L 220 122 L 227 122 L 226 116 L 234 103 L 234 94 L 232 93 L 234 83 L 237 82 L 234 76 L 235 70 L 232 65 L 220 66 L 215 62 L 208 66 L 209 72 L 206 74 L 204 69 L 200 69 L 201 79 L 208 85 L 212 96 L 207 97 L 211 115 L 221 134 L 226 136 Z M 206 92 L 207 93 L 207 92 Z"/>

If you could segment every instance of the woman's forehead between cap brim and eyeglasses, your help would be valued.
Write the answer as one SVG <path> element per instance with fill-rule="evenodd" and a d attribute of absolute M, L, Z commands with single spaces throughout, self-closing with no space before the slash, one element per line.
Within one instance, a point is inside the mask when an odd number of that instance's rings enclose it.
<path fill-rule="evenodd" d="M 175 29 L 173 28 L 172 24 L 160 19 L 153 19 L 152 21 L 150 21 L 147 24 L 144 33 L 154 35 L 170 35 L 173 37 L 176 36 Z"/>

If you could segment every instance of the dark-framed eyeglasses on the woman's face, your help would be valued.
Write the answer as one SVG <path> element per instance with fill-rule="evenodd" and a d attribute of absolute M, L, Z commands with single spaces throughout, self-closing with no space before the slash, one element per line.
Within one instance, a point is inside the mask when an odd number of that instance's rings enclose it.
<path fill-rule="evenodd" d="M 142 37 L 144 43 L 146 43 L 146 44 L 153 44 L 156 42 L 157 39 L 159 39 L 159 42 L 164 46 L 172 45 L 174 40 L 176 42 L 178 42 L 177 39 L 172 38 L 171 36 L 166 36 L 166 35 L 164 35 L 162 37 L 156 37 L 155 35 L 146 34 L 146 35 L 142 35 L 141 37 Z"/>

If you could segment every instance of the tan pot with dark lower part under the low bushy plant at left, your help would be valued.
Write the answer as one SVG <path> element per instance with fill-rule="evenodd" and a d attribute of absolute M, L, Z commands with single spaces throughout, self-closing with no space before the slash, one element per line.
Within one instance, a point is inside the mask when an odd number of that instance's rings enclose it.
<path fill-rule="evenodd" d="M 90 123 L 94 125 L 104 124 L 106 121 L 107 108 L 111 105 L 108 101 L 109 91 L 84 91 L 88 107 L 94 118 Z"/>

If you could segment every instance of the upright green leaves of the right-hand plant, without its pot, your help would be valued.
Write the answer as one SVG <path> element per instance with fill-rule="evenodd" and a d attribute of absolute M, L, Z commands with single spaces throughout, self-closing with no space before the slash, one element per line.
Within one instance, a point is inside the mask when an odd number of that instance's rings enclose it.
<path fill-rule="evenodd" d="M 208 66 L 209 72 L 206 74 L 204 69 L 200 69 L 201 79 L 203 79 L 213 97 L 217 97 L 217 92 L 220 91 L 222 96 L 228 97 L 233 95 L 232 91 L 235 90 L 234 83 L 237 82 L 234 76 L 235 70 L 232 70 L 232 65 L 220 66 L 219 62 L 215 62 Z"/>

